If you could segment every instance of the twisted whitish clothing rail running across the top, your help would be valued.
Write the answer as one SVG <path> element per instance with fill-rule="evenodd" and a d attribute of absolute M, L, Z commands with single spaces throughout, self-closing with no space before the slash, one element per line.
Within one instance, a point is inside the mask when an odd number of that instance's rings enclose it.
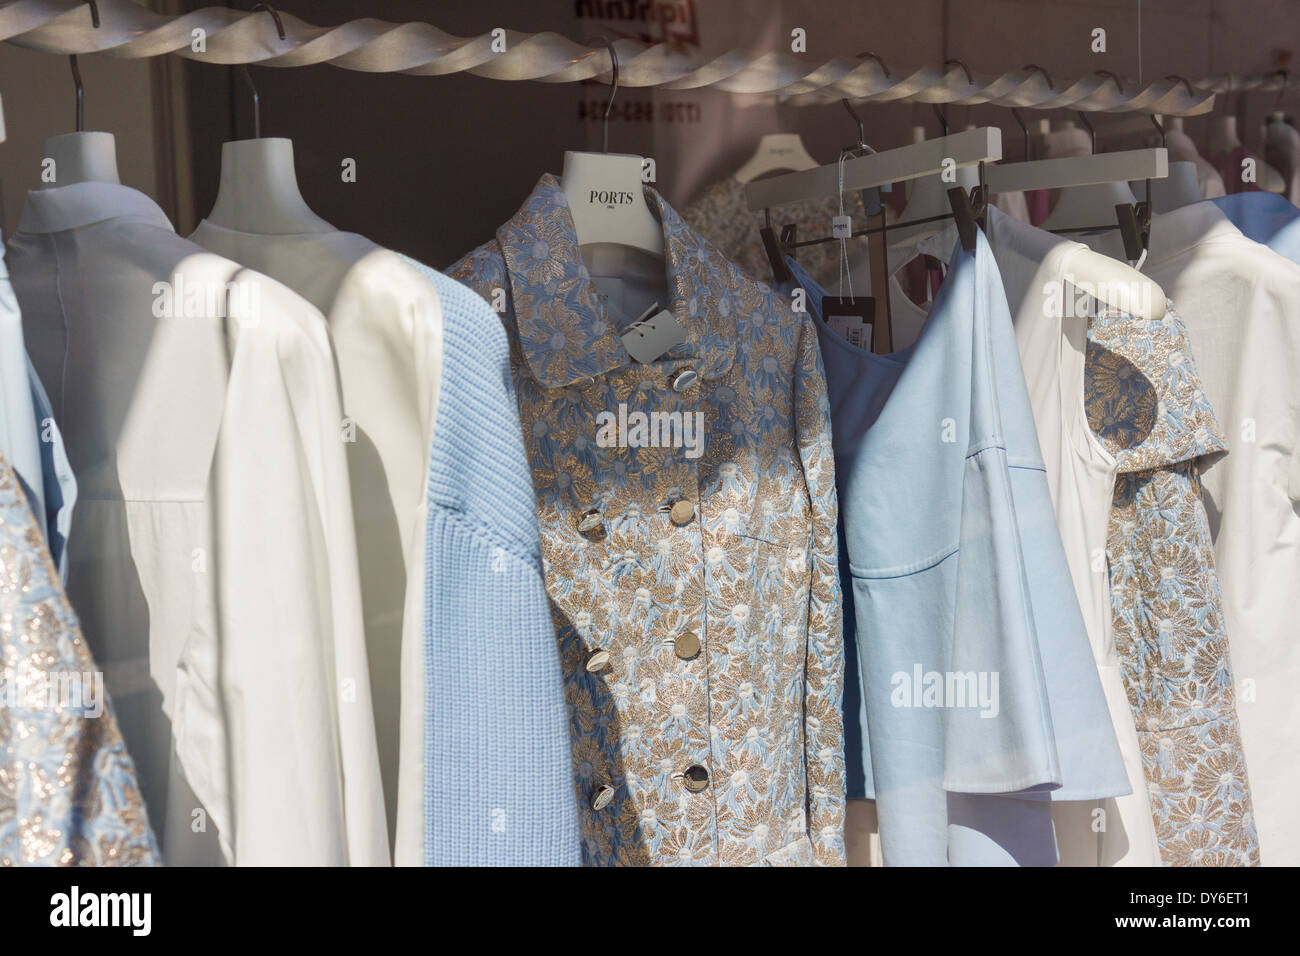
<path fill-rule="evenodd" d="M 247 12 L 204 7 L 169 17 L 130 0 L 16 0 L 0 8 L 0 40 L 65 56 L 105 53 L 140 59 L 176 53 L 220 65 L 328 62 L 363 73 L 464 72 L 490 79 L 542 83 L 610 81 L 606 46 L 575 43 L 555 33 L 494 29 L 478 36 L 454 36 L 430 23 L 372 18 L 325 27 L 273 10 L 268 4 L 256 7 Z M 194 48 L 196 30 L 204 40 L 202 51 Z M 731 51 L 706 57 L 671 44 L 629 38 L 615 40 L 614 48 L 619 83 L 624 87 L 716 87 L 734 94 L 779 95 L 792 104 L 849 98 L 1166 116 L 1197 116 L 1214 105 L 1213 88 L 1179 77 L 1139 85 L 1102 72 L 1058 85 L 1037 66 L 982 77 L 958 61 L 948 61 L 941 68 L 923 66 L 894 75 L 874 56 L 836 57 L 822 64 L 776 52 Z"/>

